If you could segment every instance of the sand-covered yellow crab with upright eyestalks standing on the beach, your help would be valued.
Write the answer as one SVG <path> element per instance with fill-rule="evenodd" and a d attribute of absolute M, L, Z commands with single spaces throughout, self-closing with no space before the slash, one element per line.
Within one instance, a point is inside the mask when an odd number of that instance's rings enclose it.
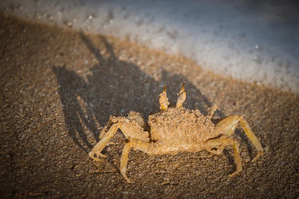
<path fill-rule="evenodd" d="M 231 145 L 233 147 L 236 171 L 229 177 L 233 177 L 242 171 L 242 159 L 238 142 L 231 137 L 238 122 L 241 123 L 245 133 L 258 151 L 258 155 L 251 161 L 256 161 L 263 155 L 261 143 L 250 129 L 242 115 L 230 115 L 222 118 L 217 123 L 212 122 L 217 107 L 213 105 L 205 115 L 199 110 L 191 110 L 182 107 L 186 100 L 186 92 L 183 83 L 178 95 L 175 107 L 168 107 L 166 85 L 159 95 L 161 111 L 149 115 L 147 123 L 141 113 L 131 111 L 128 116 L 110 116 L 108 123 L 100 133 L 100 141 L 89 153 L 89 157 L 98 161 L 100 157 L 106 157 L 101 152 L 120 129 L 128 142 L 125 144 L 122 156 L 120 172 L 128 183 L 130 179 L 126 175 L 129 151 L 131 148 L 141 150 L 149 155 L 177 154 L 181 151 L 198 152 L 207 150 L 213 154 L 222 153 L 223 149 Z"/>

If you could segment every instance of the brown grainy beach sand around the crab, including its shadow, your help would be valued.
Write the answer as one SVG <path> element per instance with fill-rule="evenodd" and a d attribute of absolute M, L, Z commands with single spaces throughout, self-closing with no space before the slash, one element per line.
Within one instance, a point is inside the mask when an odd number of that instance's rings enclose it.
<path fill-rule="evenodd" d="M 232 148 L 149 156 L 130 151 L 126 183 L 119 172 L 125 138 L 118 132 L 93 162 L 88 152 L 111 114 L 159 109 L 167 85 L 175 102 L 216 118 L 243 114 L 265 155 L 241 125 L 243 172 L 234 177 Z M 1 198 L 297 198 L 299 96 L 203 71 L 184 57 L 127 41 L 84 35 L 0 15 Z"/>

